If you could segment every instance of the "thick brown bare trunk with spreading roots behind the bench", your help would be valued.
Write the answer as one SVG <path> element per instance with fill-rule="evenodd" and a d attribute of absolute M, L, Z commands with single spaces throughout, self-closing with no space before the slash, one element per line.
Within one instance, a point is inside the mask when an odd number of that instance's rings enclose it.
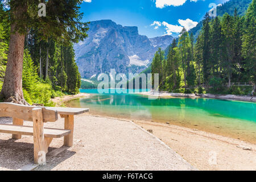
<path fill-rule="evenodd" d="M 9 54 L 6 65 L 5 80 L 0 94 L 1 100 L 28 105 L 22 91 L 22 69 L 25 35 L 15 32 L 15 24 L 11 24 Z"/>

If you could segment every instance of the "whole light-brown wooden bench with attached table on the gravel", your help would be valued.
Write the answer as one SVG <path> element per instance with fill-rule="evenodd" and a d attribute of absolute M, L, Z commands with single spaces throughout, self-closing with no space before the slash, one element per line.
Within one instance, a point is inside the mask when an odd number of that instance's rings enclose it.
<path fill-rule="evenodd" d="M 35 164 L 46 164 L 46 154 L 52 139 L 64 137 L 64 146 L 73 146 L 74 115 L 88 111 L 80 108 L 0 103 L 0 117 L 13 118 L 13 125 L 0 125 L 0 133 L 13 134 L 13 139 L 20 139 L 22 135 L 34 136 Z M 44 123 L 57 121 L 58 114 L 65 118 L 64 129 L 44 128 Z M 23 121 L 32 121 L 33 126 L 23 126 Z"/>

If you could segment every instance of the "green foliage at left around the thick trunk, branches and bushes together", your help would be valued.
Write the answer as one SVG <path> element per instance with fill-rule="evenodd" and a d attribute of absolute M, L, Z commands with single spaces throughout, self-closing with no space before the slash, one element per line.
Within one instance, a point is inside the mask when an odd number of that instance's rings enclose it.
<path fill-rule="evenodd" d="M 10 10 L 4 8 L 11 7 Z M 38 1 L 0 2 L 0 86 L 5 76 L 10 24 L 26 35 L 23 60 L 23 91 L 30 103 L 52 106 L 51 97 L 79 93 L 80 73 L 73 43 L 87 37 L 82 23 L 82 0 L 44 1 L 47 17 L 38 16 Z M 10 21 L 11 20 L 11 21 Z M 30 30 L 29 32 L 27 32 Z"/>

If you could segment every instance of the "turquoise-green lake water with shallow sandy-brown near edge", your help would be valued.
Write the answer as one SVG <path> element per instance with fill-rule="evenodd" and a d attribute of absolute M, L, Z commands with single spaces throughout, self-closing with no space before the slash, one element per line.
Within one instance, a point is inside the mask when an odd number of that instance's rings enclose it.
<path fill-rule="evenodd" d="M 138 90 L 137 90 L 138 91 Z M 256 103 L 208 98 L 148 99 L 141 94 L 98 94 L 80 90 L 89 98 L 67 102 L 70 107 L 89 107 L 90 113 L 118 118 L 169 122 L 256 143 Z"/>

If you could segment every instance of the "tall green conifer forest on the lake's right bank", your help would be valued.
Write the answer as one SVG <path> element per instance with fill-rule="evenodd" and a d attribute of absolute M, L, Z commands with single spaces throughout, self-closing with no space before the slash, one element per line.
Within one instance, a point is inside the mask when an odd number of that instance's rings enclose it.
<path fill-rule="evenodd" d="M 202 93 L 205 88 L 210 93 L 250 94 L 252 88 L 234 88 L 231 82 L 256 83 L 255 14 L 255 0 L 244 16 L 238 16 L 236 9 L 234 15 L 206 14 L 196 43 L 183 28 L 167 56 L 161 49 L 155 53 L 152 73 L 159 73 L 160 90 Z"/>

